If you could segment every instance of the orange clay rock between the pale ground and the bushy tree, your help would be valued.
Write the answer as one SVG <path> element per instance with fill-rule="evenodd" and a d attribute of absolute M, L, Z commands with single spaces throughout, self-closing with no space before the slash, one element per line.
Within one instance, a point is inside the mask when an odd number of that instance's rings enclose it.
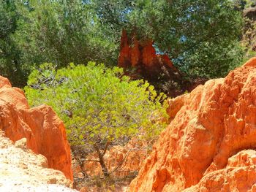
<path fill-rule="evenodd" d="M 1 76 L 0 129 L 14 142 L 26 137 L 27 147 L 44 155 L 49 168 L 58 169 L 73 180 L 64 123 L 49 106 L 29 109 L 23 91 L 12 88 L 10 82 Z"/>

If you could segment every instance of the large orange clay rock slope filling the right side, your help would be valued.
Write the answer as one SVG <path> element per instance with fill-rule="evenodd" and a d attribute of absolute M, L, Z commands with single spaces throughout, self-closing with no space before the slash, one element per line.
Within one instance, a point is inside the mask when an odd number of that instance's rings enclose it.
<path fill-rule="evenodd" d="M 255 191 L 256 58 L 173 99 L 168 112 L 129 191 Z"/>

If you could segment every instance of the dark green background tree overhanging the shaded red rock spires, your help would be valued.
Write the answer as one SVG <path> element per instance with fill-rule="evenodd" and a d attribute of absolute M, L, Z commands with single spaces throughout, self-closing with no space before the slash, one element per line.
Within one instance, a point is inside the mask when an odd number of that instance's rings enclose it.
<path fill-rule="evenodd" d="M 240 64 L 241 12 L 229 0 L 92 0 L 108 33 L 126 28 L 138 39 L 153 39 L 183 72 L 222 77 Z M 108 27 L 106 27 L 108 26 Z"/>

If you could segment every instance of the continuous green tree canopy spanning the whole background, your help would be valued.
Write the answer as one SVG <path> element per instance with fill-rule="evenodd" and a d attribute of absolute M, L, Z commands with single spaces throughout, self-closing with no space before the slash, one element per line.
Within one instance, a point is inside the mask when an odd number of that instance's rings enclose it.
<path fill-rule="evenodd" d="M 0 74 L 21 87 L 35 64 L 116 66 L 124 28 L 141 41 L 153 39 L 189 77 L 223 77 L 244 56 L 234 2 L 0 0 Z"/>

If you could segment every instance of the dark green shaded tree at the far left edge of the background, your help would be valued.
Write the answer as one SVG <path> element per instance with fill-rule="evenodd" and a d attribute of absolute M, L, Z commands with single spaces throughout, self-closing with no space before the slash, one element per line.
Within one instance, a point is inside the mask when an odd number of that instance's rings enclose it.
<path fill-rule="evenodd" d="M 20 63 L 20 50 L 13 34 L 18 28 L 18 14 L 15 1 L 0 0 L 0 75 L 9 77 L 14 85 L 23 85 L 20 79 L 26 70 Z"/>

